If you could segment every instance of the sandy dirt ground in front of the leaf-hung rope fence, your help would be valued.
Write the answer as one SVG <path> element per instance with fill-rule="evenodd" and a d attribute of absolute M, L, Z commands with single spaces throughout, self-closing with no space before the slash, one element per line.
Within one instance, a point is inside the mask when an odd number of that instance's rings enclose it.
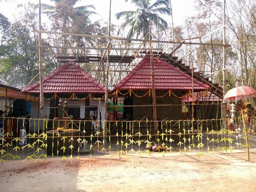
<path fill-rule="evenodd" d="M 256 152 L 4 162 L 0 191 L 256 191 Z"/>

